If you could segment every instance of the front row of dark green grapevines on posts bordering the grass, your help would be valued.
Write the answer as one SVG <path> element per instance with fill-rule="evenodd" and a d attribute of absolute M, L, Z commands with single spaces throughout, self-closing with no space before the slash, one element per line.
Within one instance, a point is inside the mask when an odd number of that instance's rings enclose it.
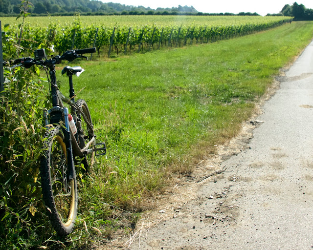
<path fill-rule="evenodd" d="M 164 46 L 178 47 L 194 43 L 216 42 L 267 30 L 288 21 L 290 18 L 241 25 L 142 25 L 135 27 L 108 27 L 105 25 L 84 27 L 80 21 L 75 21 L 66 27 L 50 24 L 42 28 L 26 24 L 22 34 L 21 46 L 35 50 L 41 43 L 53 44 L 54 49 L 61 53 L 73 48 L 92 47 L 97 33 L 95 46 L 98 52 L 108 51 L 111 44 L 117 54 L 121 51 L 130 53 L 131 51 L 158 49 Z M 18 34 L 16 28 L 10 28 L 8 32 Z"/>

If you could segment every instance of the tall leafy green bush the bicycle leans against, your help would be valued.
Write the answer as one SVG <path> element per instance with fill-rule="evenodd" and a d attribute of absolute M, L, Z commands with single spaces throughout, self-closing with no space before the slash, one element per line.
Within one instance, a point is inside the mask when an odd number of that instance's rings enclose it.
<path fill-rule="evenodd" d="M 6 43 L 3 47 L 10 46 Z M 14 50 L 6 52 L 10 51 Z M 38 72 L 34 67 L 16 68 L 14 74 L 7 69 L 4 91 L 0 93 L 1 249 L 27 249 L 45 235 L 47 220 L 38 159 L 44 134 L 43 100 L 47 100 L 48 93 L 40 80 L 33 80 L 40 79 L 34 78 Z"/>

